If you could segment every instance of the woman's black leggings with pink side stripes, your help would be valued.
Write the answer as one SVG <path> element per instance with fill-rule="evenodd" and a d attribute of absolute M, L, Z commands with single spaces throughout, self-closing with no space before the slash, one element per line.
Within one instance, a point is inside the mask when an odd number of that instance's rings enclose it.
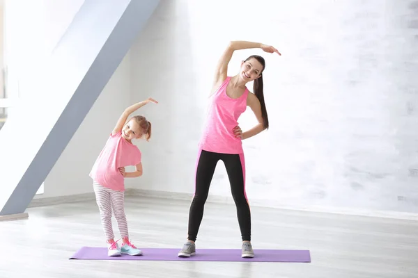
<path fill-rule="evenodd" d="M 203 208 L 208 198 L 209 186 L 215 167 L 222 160 L 228 173 L 242 240 L 251 240 L 251 215 L 245 195 L 245 162 L 243 154 L 218 154 L 201 150 L 196 165 L 196 189 L 189 211 L 188 239 L 196 241 L 203 218 Z"/>

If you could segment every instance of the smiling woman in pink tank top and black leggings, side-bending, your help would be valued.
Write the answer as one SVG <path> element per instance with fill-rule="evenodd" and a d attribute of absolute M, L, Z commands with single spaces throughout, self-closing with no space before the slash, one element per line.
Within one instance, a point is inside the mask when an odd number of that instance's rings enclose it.
<path fill-rule="evenodd" d="M 231 192 L 237 207 L 238 222 L 242 236 L 242 257 L 254 257 L 251 247 L 251 215 L 245 194 L 245 161 L 242 140 L 268 129 L 268 116 L 263 96 L 263 70 L 265 60 L 261 56 L 249 56 L 242 61 L 240 72 L 227 76 L 228 64 L 233 51 L 261 48 L 268 53 L 279 53 L 274 47 L 256 42 L 230 42 L 222 54 L 215 72 L 210 108 L 203 136 L 199 142 L 199 156 L 196 163 L 196 188 L 189 210 L 187 243 L 178 253 L 180 257 L 195 254 L 196 236 L 203 218 L 203 208 L 209 193 L 215 167 L 222 160 L 228 173 Z M 254 93 L 246 87 L 254 81 Z M 238 117 L 247 106 L 251 108 L 258 124 L 242 133 Z"/>

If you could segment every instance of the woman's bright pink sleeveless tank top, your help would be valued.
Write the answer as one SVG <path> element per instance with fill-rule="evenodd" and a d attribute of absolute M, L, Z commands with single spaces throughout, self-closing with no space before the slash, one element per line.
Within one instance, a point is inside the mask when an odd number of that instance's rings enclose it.
<path fill-rule="evenodd" d="M 203 129 L 199 148 L 208 152 L 222 154 L 242 154 L 242 141 L 235 138 L 233 129 L 238 125 L 238 118 L 247 109 L 248 89 L 238 99 L 226 95 L 226 86 L 231 76 L 210 97 L 208 117 Z"/>

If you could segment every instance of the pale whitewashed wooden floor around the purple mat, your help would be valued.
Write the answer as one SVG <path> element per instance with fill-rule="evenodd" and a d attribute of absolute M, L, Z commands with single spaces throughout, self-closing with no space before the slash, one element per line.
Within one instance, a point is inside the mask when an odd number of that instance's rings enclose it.
<path fill-rule="evenodd" d="M 188 208 L 178 200 L 127 199 L 132 242 L 182 247 Z M 28 212 L 27 220 L 0 222 L 0 277 L 418 277 L 414 221 L 251 207 L 254 249 L 309 249 L 312 263 L 78 261 L 68 258 L 79 247 L 104 246 L 95 202 Z M 235 207 L 206 204 L 196 247 L 240 246 Z"/>

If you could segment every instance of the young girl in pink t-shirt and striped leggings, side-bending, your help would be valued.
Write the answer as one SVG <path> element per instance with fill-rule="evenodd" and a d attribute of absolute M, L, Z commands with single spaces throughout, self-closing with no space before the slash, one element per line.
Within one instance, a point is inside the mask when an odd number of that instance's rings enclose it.
<path fill-rule="evenodd" d="M 126 121 L 130 114 L 150 102 L 158 103 L 154 99 L 148 98 L 146 101 L 141 101 L 126 108 L 90 172 L 96 202 L 102 218 L 104 235 L 107 238 L 107 254 L 109 256 L 121 256 L 121 254 L 137 256 L 142 254 L 141 250 L 130 243 L 127 232 L 124 209 L 124 178 L 140 177 L 142 175 L 141 152 L 137 146 L 132 144 L 132 139 L 140 139 L 145 136 L 148 141 L 151 137 L 151 123 L 143 116 L 134 116 L 128 122 Z M 135 165 L 136 171 L 125 172 L 125 167 L 129 165 Z M 114 240 L 111 225 L 112 209 L 123 240 L 121 248 Z"/>

